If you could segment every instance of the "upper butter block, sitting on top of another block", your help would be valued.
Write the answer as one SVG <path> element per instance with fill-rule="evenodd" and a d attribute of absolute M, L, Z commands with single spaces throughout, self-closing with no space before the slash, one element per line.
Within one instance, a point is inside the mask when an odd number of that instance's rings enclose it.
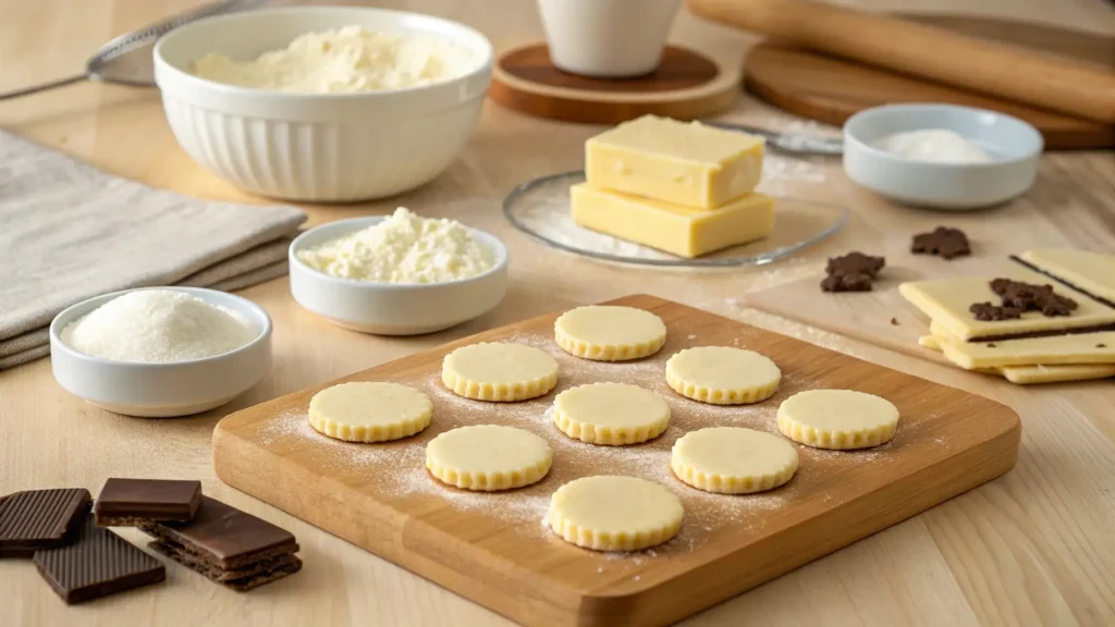
<path fill-rule="evenodd" d="M 589 184 L 675 204 L 715 209 L 755 190 L 762 137 L 647 115 L 584 144 Z"/>

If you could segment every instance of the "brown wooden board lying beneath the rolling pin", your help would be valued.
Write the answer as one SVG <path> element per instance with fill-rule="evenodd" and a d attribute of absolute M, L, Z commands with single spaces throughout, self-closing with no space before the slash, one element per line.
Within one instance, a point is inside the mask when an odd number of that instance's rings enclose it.
<path fill-rule="evenodd" d="M 1008 20 L 954 16 L 909 17 L 964 35 L 1025 46 L 1111 67 L 1115 38 Z M 1019 74 L 1018 80 L 1028 80 Z M 791 113 L 841 125 L 853 114 L 889 103 L 952 103 L 1002 112 L 1029 122 L 1045 136 L 1047 148 L 1102 148 L 1115 145 L 1107 126 L 929 83 L 818 52 L 767 41 L 747 55 L 744 86 Z"/>

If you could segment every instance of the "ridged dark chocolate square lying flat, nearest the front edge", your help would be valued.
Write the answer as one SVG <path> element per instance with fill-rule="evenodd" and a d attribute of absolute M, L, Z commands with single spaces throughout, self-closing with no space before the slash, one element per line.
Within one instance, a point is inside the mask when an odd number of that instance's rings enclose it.
<path fill-rule="evenodd" d="M 69 546 L 35 552 L 35 566 L 68 605 L 157 583 L 166 568 L 87 515 Z"/>

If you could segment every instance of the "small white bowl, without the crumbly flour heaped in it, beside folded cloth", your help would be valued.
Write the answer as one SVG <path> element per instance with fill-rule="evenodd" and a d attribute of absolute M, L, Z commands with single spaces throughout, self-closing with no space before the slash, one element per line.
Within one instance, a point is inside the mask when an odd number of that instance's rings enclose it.
<path fill-rule="evenodd" d="M 507 292 L 507 249 L 494 235 L 469 229 L 492 249 L 489 270 L 442 283 L 380 283 L 330 277 L 310 268 L 298 251 L 367 229 L 384 216 L 338 220 L 311 229 L 290 244 L 290 293 L 306 309 L 355 331 L 409 336 L 440 331 L 491 311 Z"/>

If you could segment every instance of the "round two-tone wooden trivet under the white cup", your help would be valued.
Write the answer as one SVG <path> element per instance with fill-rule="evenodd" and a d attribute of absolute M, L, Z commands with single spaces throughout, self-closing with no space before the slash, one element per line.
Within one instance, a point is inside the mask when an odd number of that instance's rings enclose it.
<path fill-rule="evenodd" d="M 545 44 L 534 44 L 500 57 L 489 95 L 505 107 L 569 122 L 619 124 L 647 114 L 695 119 L 731 108 L 739 76 L 714 59 L 668 46 L 651 74 L 590 78 L 558 69 Z"/>

